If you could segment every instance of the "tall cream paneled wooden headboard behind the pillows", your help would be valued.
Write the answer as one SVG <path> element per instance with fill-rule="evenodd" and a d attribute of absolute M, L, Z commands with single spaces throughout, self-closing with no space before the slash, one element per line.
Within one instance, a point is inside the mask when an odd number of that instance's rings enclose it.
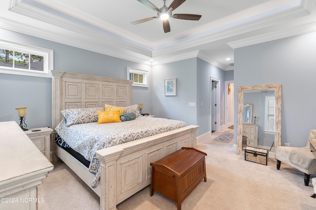
<path fill-rule="evenodd" d="M 63 119 L 60 111 L 72 108 L 103 107 L 104 104 L 129 106 L 132 80 L 51 70 L 52 128 Z"/>

